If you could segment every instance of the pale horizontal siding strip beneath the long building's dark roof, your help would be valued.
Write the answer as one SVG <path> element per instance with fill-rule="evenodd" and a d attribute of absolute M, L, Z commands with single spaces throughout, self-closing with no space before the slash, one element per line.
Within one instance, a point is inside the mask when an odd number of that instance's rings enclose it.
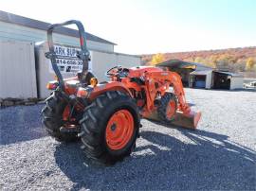
<path fill-rule="evenodd" d="M 46 41 L 46 31 L 30 28 L 27 26 L 17 26 L 0 21 L 0 40 L 15 40 L 25 42 L 43 42 Z M 68 45 L 79 45 L 79 39 L 62 34 L 54 34 L 56 43 Z M 87 41 L 88 49 L 106 52 L 114 52 L 114 45 L 100 42 Z"/>

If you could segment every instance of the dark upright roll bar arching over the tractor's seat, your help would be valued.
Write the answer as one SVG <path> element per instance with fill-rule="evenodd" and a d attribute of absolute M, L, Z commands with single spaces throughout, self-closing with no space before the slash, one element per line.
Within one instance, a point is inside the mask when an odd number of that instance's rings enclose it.
<path fill-rule="evenodd" d="M 77 57 L 82 60 L 82 73 L 84 73 L 88 70 L 88 61 L 90 61 L 90 52 L 87 49 L 85 31 L 84 31 L 84 27 L 82 26 L 82 23 L 80 21 L 70 20 L 70 21 L 66 21 L 64 23 L 53 24 L 53 25 L 48 26 L 47 41 L 48 41 L 48 46 L 49 46 L 49 52 L 46 52 L 46 58 L 50 59 L 52 69 L 55 72 L 55 74 L 59 80 L 59 85 L 61 88 L 64 88 L 64 78 L 63 78 L 63 76 L 57 66 L 57 62 L 56 62 L 56 59 L 59 59 L 61 57 L 56 55 L 56 53 L 54 52 L 54 42 L 53 42 L 52 33 L 56 27 L 69 26 L 69 25 L 76 25 L 79 29 L 81 51 L 77 52 Z"/>

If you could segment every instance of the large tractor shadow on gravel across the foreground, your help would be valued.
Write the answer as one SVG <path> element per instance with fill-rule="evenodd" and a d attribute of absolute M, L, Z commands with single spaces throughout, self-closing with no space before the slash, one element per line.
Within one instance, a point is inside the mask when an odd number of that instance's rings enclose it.
<path fill-rule="evenodd" d="M 142 131 L 141 137 L 149 144 L 114 166 L 92 164 L 75 144 L 56 148 L 56 164 L 74 182 L 72 190 L 255 189 L 255 152 L 230 142 L 225 135 L 180 131 L 193 144 Z"/>

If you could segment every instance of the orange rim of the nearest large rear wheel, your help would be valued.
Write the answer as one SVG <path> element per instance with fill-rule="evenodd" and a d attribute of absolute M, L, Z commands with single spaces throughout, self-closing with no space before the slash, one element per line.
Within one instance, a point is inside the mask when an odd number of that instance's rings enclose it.
<path fill-rule="evenodd" d="M 130 141 L 134 132 L 134 117 L 128 110 L 119 110 L 108 120 L 106 127 L 106 144 L 109 148 L 119 150 Z"/>

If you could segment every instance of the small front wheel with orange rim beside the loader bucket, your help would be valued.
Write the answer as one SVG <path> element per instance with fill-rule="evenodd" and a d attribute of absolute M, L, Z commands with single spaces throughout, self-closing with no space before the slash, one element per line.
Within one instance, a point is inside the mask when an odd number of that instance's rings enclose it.
<path fill-rule="evenodd" d="M 157 114 L 161 121 L 170 124 L 174 121 L 177 99 L 173 93 L 165 93 L 158 102 Z"/>

